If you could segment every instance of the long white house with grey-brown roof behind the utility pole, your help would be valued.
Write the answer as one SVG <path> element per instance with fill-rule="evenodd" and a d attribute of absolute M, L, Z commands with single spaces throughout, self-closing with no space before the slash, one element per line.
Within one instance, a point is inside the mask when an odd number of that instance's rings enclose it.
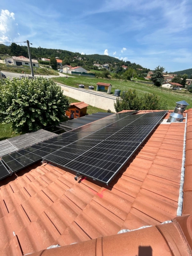
<path fill-rule="evenodd" d="M 15 65 L 15 66 L 28 66 L 30 67 L 30 60 L 25 58 L 24 56 L 12 56 L 12 58 L 6 58 L 4 60 L 6 65 Z M 37 60 L 32 59 L 33 67 L 39 67 L 39 63 Z"/>

